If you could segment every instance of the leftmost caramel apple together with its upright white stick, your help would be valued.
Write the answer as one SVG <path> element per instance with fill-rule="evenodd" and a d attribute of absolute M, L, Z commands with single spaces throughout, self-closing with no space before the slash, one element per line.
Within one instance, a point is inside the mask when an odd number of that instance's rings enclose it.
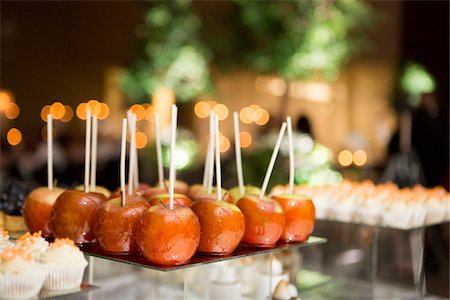
<path fill-rule="evenodd" d="M 51 216 L 53 204 L 64 192 L 53 186 L 53 118 L 47 115 L 47 186 L 31 191 L 25 199 L 23 216 L 31 233 L 41 231 L 43 237 L 52 236 Z"/>

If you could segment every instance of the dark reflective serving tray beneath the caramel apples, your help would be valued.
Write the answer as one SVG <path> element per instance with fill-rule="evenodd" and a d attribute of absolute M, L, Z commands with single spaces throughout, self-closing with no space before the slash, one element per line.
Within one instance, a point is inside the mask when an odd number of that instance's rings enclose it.
<path fill-rule="evenodd" d="M 81 248 L 81 251 L 83 251 L 86 255 L 94 256 L 98 258 L 103 258 L 111 261 L 117 261 L 121 263 L 131 264 L 143 268 L 149 268 L 153 270 L 158 271 L 172 271 L 172 270 L 179 270 L 179 269 L 185 269 L 195 266 L 200 266 L 204 264 L 209 263 L 215 263 L 219 261 L 225 261 L 225 260 L 231 260 L 236 258 L 242 258 L 246 256 L 251 255 L 257 255 L 257 254 L 264 254 L 264 253 L 270 253 L 270 252 L 278 252 L 281 250 L 287 250 L 287 249 L 296 249 L 296 248 L 304 248 L 309 247 L 313 245 L 319 245 L 325 243 L 327 240 L 324 238 L 316 237 L 316 236 L 310 236 L 308 241 L 306 242 L 298 242 L 298 243 L 277 243 L 275 246 L 270 248 L 260 248 L 260 247 L 251 247 L 246 245 L 239 245 L 238 248 L 231 254 L 226 256 L 211 256 L 206 255 L 202 253 L 196 253 L 194 257 L 191 258 L 189 263 L 182 264 L 182 265 L 176 265 L 176 266 L 161 266 L 152 264 L 147 259 L 145 259 L 144 256 L 137 254 L 137 255 L 113 255 L 113 254 L 107 254 L 103 252 L 98 245 L 92 245 Z"/>

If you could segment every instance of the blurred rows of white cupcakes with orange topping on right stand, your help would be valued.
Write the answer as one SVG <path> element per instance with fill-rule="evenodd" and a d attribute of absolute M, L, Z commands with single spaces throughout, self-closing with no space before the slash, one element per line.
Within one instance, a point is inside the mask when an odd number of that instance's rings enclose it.
<path fill-rule="evenodd" d="M 285 193 L 277 186 L 273 195 Z M 444 188 L 399 188 L 393 183 L 344 181 L 336 186 L 296 186 L 311 198 L 317 218 L 409 229 L 449 220 L 450 194 Z"/>

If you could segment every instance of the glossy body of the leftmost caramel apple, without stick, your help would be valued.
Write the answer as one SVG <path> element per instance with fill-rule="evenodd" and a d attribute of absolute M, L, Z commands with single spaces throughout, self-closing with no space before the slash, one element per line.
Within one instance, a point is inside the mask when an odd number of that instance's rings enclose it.
<path fill-rule="evenodd" d="M 63 189 L 39 187 L 28 194 L 23 206 L 25 224 L 31 233 L 42 231 L 42 237 L 52 237 L 51 217 L 53 204 Z"/>

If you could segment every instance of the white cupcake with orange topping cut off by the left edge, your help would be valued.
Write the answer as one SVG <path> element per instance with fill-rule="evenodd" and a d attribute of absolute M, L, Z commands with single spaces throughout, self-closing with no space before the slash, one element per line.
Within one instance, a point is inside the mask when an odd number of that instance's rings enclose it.
<path fill-rule="evenodd" d="M 47 268 L 33 260 L 25 249 L 10 247 L 0 253 L 0 298 L 28 299 L 44 283 Z"/>

